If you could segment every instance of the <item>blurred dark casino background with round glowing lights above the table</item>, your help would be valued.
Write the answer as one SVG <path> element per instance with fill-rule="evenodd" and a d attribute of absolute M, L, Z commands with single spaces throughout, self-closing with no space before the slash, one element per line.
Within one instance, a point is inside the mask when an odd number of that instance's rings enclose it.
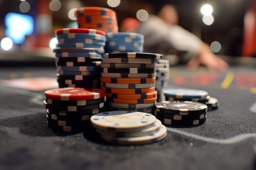
<path fill-rule="evenodd" d="M 77 27 L 76 8 L 113 9 L 120 30 L 125 18 L 143 22 L 164 3 L 173 4 L 178 24 L 216 54 L 256 56 L 256 0 L 0 0 L 0 58 L 53 57 L 55 30 Z"/>

